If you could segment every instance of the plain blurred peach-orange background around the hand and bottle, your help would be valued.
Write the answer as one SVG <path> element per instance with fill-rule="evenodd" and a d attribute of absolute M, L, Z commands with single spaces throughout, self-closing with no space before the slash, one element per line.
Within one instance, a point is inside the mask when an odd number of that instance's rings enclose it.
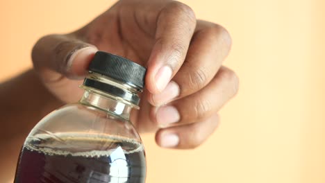
<path fill-rule="evenodd" d="M 31 68 L 39 37 L 75 30 L 114 2 L 1 1 L 0 81 Z M 240 92 L 195 150 L 164 150 L 142 134 L 147 182 L 324 183 L 325 1 L 183 2 L 230 31 L 225 64 L 237 71 Z"/>

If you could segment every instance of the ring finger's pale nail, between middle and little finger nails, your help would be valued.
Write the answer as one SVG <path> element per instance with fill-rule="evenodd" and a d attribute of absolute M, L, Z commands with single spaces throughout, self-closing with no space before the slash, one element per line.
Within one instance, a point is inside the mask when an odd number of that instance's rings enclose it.
<path fill-rule="evenodd" d="M 170 123 L 176 123 L 181 119 L 178 110 L 174 106 L 159 107 L 156 112 L 156 119 L 158 125 L 167 125 Z"/>

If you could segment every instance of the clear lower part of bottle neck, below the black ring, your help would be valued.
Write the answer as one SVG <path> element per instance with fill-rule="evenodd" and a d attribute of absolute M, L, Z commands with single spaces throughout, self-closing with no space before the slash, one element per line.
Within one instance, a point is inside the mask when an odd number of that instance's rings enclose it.
<path fill-rule="evenodd" d="M 122 119 L 130 119 L 132 109 L 131 105 L 116 100 L 114 97 L 109 98 L 107 96 L 103 96 L 103 94 L 99 94 L 99 91 L 96 91 L 95 89 L 86 87 L 83 97 L 79 103 L 108 112 L 109 114 L 113 114 L 114 116 Z"/>

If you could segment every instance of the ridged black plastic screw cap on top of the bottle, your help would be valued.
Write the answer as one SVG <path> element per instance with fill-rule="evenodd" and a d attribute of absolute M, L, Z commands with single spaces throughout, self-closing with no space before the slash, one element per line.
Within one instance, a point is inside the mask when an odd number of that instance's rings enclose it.
<path fill-rule="evenodd" d="M 89 71 L 100 73 L 115 80 L 126 82 L 135 87 L 144 87 L 147 69 L 118 55 L 97 51 L 90 62 Z"/>

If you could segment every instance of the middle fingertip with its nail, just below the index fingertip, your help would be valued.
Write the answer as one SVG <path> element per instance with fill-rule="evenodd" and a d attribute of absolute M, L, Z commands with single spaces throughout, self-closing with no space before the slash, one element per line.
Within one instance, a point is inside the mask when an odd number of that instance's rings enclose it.
<path fill-rule="evenodd" d="M 159 94 L 153 94 L 152 101 L 156 106 L 168 103 L 179 95 L 179 90 L 180 89 L 177 83 L 171 81 L 168 83 L 167 87 L 163 90 L 163 92 Z"/>

